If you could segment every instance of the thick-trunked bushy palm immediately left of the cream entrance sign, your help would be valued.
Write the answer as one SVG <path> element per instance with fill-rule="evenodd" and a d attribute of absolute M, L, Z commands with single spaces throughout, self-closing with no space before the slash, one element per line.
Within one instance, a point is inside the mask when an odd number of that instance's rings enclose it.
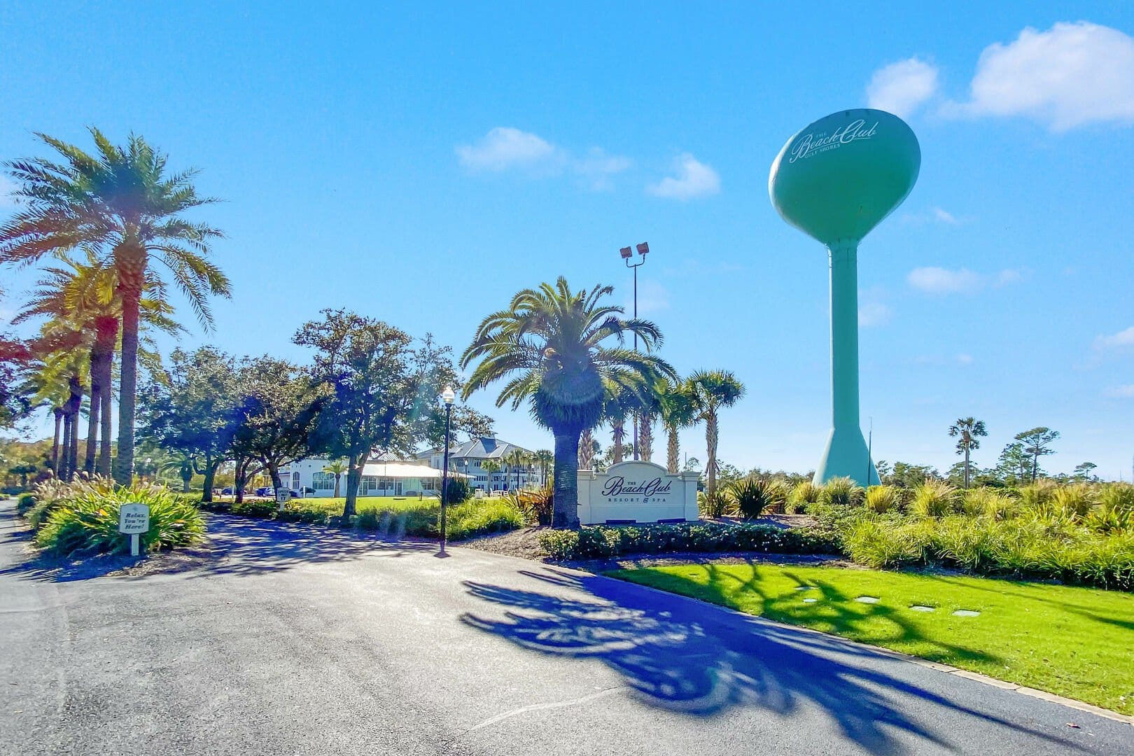
<path fill-rule="evenodd" d="M 481 322 L 460 356 L 462 367 L 479 360 L 463 390 L 466 399 L 510 377 L 497 407 L 510 402 L 518 409 L 527 401 L 535 421 L 555 435 L 552 527 L 578 526 L 578 440 L 602 418 L 606 382 L 632 385 L 675 375 L 668 363 L 649 354 L 661 343 L 658 326 L 619 317 L 621 307 L 601 301 L 612 292 L 613 287 L 601 284 L 572 291 L 562 277 L 555 286 L 518 291 L 507 309 Z M 621 346 L 632 333 L 645 352 Z M 609 339 L 618 346 L 603 346 Z"/>

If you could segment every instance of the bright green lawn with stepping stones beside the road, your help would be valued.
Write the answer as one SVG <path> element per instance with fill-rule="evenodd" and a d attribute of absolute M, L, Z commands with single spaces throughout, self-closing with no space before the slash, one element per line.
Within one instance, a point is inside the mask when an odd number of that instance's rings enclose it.
<path fill-rule="evenodd" d="M 1134 595 L 1128 593 L 752 563 L 608 575 L 1134 714 Z M 861 603 L 858 596 L 879 601 Z M 955 610 L 980 617 L 954 617 Z"/>

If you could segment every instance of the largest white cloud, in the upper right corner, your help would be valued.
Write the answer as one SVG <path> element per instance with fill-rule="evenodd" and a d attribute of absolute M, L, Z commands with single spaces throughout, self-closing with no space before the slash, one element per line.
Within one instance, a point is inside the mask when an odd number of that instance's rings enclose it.
<path fill-rule="evenodd" d="M 1134 39 L 1089 22 L 1026 27 L 984 48 L 967 103 L 946 114 L 1025 116 L 1055 131 L 1134 121 Z"/>

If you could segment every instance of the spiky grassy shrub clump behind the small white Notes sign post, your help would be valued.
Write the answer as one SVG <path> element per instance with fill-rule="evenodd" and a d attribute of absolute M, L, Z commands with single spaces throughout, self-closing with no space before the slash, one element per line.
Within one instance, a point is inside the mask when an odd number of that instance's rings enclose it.
<path fill-rule="evenodd" d="M 147 551 L 186 545 L 205 529 L 196 507 L 160 485 L 127 487 L 94 478 L 67 484 L 67 489 L 35 534 L 37 546 L 61 555 L 128 551 L 129 536 L 118 532 L 118 510 L 126 503 L 150 507 L 150 529 L 141 534 L 142 547 Z"/>

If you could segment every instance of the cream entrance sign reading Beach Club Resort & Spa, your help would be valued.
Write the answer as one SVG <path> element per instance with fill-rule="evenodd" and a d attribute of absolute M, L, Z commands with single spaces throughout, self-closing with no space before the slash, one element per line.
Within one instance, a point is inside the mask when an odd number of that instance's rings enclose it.
<path fill-rule="evenodd" d="M 641 461 L 619 462 L 606 473 L 579 470 L 578 519 L 584 525 L 695 520 L 700 477 Z"/>

